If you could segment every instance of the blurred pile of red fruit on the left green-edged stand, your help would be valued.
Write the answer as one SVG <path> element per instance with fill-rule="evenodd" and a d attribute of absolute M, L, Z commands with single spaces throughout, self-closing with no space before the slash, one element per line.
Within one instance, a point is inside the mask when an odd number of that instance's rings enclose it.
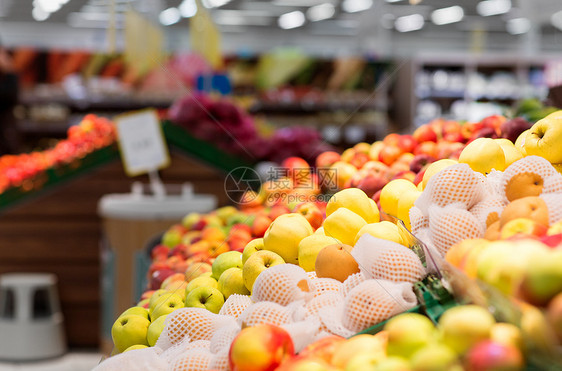
<path fill-rule="evenodd" d="M 68 129 L 68 138 L 45 151 L 0 157 L 0 194 L 12 187 L 29 191 L 47 169 L 79 160 L 97 149 L 115 142 L 115 127 L 103 117 L 86 115 L 78 125 Z M 37 183 L 37 184 L 34 184 Z"/>

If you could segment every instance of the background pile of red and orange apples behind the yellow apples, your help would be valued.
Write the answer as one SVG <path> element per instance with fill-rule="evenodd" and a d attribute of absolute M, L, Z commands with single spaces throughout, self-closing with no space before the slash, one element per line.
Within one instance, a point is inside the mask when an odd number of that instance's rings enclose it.
<path fill-rule="evenodd" d="M 336 169 L 340 189 L 355 187 L 378 200 L 379 191 L 393 179 L 421 182 L 427 167 L 439 159 L 458 160 L 464 147 L 478 138 L 515 141 L 531 123 L 490 116 L 480 122 L 434 120 L 412 135 L 389 134 L 373 144 L 359 143 L 341 155 L 325 152 L 316 159 L 318 168 Z"/>

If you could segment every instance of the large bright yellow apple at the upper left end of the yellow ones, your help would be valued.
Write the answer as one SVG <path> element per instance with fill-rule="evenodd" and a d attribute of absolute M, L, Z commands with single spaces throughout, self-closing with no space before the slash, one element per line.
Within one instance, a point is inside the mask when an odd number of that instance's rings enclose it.
<path fill-rule="evenodd" d="M 299 213 L 284 214 L 265 231 L 263 247 L 273 251 L 286 263 L 298 264 L 299 243 L 314 233 L 310 223 Z"/>

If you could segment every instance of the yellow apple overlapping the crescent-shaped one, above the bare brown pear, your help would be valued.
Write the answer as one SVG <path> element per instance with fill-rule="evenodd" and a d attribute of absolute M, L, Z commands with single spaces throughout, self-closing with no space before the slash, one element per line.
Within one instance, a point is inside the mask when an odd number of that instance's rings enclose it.
<path fill-rule="evenodd" d="M 353 211 L 340 207 L 324 220 L 324 233 L 346 245 L 353 246 L 357 232 L 367 222 Z"/>

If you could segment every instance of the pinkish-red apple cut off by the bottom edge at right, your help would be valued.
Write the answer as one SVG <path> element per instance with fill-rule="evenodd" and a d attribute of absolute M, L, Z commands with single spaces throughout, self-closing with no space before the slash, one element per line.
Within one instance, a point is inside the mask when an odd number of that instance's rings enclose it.
<path fill-rule="evenodd" d="M 521 351 L 512 345 L 483 341 L 476 344 L 466 355 L 466 371 L 523 370 Z"/>

